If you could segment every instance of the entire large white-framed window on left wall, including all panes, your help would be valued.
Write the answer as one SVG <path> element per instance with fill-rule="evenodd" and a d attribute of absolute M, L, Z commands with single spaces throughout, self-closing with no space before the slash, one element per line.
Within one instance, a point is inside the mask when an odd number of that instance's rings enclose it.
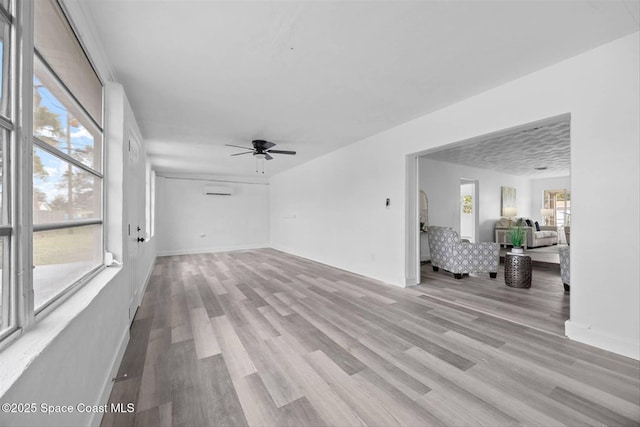
<path fill-rule="evenodd" d="M 56 0 L 0 0 L 0 341 L 102 268 L 102 92 Z"/>

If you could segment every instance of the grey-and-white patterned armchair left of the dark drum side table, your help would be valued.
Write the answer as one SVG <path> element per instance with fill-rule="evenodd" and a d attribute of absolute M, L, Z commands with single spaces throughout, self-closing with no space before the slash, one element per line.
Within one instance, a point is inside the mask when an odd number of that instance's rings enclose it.
<path fill-rule="evenodd" d="M 498 275 L 500 247 L 497 243 L 462 241 L 451 227 L 436 225 L 427 227 L 427 235 L 433 271 L 443 268 L 456 279 L 469 273 L 489 273 L 491 278 Z"/>

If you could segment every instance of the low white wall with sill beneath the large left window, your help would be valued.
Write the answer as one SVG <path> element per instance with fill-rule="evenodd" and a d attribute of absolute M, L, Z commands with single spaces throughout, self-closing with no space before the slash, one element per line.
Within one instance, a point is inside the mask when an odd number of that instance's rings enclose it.
<path fill-rule="evenodd" d="M 113 368 L 119 365 L 127 345 L 128 282 L 125 272 L 115 270 L 108 270 L 84 286 L 65 301 L 64 308 L 39 322 L 37 330 L 27 332 L 0 354 L 3 370 L 20 369 L 10 384 L 3 384 L 0 401 L 38 405 L 34 413 L 0 413 L 0 425 L 100 423 L 100 415 L 79 413 L 76 405 L 106 403 L 112 386 L 110 379 L 115 374 Z M 72 311 L 73 315 L 64 310 Z M 28 366 L 22 368 L 18 358 L 28 358 Z M 74 411 L 48 415 L 40 411 L 42 403 L 72 405 Z"/>

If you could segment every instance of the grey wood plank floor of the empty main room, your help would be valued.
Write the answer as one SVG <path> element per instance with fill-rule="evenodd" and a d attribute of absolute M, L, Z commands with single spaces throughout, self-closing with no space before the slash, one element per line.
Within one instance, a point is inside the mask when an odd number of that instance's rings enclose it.
<path fill-rule="evenodd" d="M 453 280 L 428 286 L 477 281 Z M 136 411 L 102 425 L 640 425 L 638 361 L 426 287 L 271 249 L 159 258 L 110 396 Z"/>

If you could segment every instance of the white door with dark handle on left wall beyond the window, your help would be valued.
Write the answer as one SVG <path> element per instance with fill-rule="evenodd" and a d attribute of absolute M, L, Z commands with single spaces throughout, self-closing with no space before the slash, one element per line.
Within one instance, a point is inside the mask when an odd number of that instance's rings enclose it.
<path fill-rule="evenodd" d="M 142 277 L 140 274 L 140 244 L 144 235 L 144 163 L 140 155 L 140 144 L 129 139 L 129 170 L 127 185 L 127 246 L 129 264 L 129 321 L 142 301 Z"/>

